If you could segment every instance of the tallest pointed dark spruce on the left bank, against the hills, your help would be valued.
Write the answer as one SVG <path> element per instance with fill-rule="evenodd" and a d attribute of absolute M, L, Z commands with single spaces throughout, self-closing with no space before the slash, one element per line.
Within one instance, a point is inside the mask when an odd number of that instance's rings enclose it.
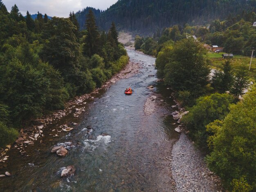
<path fill-rule="evenodd" d="M 100 37 L 92 10 L 90 10 L 87 15 L 85 26 L 87 33 L 84 41 L 85 45 L 83 47 L 83 51 L 86 56 L 91 57 L 92 55 L 97 54 L 99 52 Z"/>

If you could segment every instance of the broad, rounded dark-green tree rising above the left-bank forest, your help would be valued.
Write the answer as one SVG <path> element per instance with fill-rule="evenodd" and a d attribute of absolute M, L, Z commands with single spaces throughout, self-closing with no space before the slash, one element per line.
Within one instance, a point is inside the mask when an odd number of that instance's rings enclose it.
<path fill-rule="evenodd" d="M 53 17 L 43 32 L 47 41 L 40 57 L 64 74 L 76 65 L 80 54 L 75 31 L 76 27 L 70 19 Z"/>

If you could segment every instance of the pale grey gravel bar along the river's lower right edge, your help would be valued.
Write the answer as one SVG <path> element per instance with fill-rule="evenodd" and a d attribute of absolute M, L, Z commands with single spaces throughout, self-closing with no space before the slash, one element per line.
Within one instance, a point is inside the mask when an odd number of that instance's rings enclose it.
<path fill-rule="evenodd" d="M 171 171 L 176 192 L 223 192 L 218 176 L 213 174 L 204 156 L 182 133 L 173 145 Z"/>

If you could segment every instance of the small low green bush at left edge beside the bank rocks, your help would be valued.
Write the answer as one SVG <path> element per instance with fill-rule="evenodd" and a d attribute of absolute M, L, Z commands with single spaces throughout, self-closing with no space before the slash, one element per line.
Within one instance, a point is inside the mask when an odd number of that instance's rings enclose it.
<path fill-rule="evenodd" d="M 7 144 L 13 142 L 13 140 L 18 136 L 18 131 L 16 129 L 7 127 L 3 122 L 0 121 L 0 147 L 4 147 Z"/>

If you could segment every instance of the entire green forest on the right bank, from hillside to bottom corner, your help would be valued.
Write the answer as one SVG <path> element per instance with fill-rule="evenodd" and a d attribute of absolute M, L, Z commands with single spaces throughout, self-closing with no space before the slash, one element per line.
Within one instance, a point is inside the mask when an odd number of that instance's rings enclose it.
<path fill-rule="evenodd" d="M 153 37 L 135 38 L 135 49 L 157 57 L 158 78 L 171 87 L 180 107 L 189 111 L 181 121 L 195 145 L 207 154 L 210 170 L 234 192 L 256 190 L 256 88 L 250 86 L 256 69 L 249 71 L 249 63 L 243 61 L 256 47 L 255 20 L 256 14 L 248 11 L 213 20 L 208 28 L 174 25 L 155 31 Z M 204 48 L 206 43 L 223 46 L 227 53 L 243 55 L 242 59 L 222 59 L 217 68 Z"/>

